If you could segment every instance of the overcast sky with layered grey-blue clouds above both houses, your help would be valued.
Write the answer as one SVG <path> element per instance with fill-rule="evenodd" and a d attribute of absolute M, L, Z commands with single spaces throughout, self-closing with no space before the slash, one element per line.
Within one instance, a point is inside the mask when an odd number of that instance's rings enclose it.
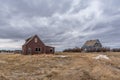
<path fill-rule="evenodd" d="M 21 49 L 37 34 L 47 45 L 81 47 L 99 39 L 120 47 L 120 0 L 0 0 L 0 49 Z"/>

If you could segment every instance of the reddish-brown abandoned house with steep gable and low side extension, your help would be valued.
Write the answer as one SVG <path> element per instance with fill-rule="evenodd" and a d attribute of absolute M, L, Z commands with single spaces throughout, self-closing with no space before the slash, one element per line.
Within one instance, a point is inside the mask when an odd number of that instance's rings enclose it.
<path fill-rule="evenodd" d="M 22 54 L 50 54 L 54 53 L 55 48 L 51 46 L 46 46 L 41 39 L 34 35 L 26 39 L 25 44 L 22 46 Z"/>

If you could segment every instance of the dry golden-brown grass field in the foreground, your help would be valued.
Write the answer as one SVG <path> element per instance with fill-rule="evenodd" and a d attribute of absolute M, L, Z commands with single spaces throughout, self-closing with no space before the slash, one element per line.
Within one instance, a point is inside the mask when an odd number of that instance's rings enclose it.
<path fill-rule="evenodd" d="M 0 80 L 120 80 L 120 53 L 0 54 Z"/>

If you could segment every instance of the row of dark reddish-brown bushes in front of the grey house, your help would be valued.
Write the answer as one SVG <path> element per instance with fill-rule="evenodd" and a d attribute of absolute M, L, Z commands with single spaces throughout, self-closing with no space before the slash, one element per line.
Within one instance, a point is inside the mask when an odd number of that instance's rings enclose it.
<path fill-rule="evenodd" d="M 69 49 L 65 49 L 63 50 L 63 52 L 120 52 L 120 48 L 114 48 L 114 49 L 110 49 L 108 47 L 103 47 L 103 48 L 92 48 L 92 49 L 87 49 L 84 50 L 82 48 L 69 48 Z"/>

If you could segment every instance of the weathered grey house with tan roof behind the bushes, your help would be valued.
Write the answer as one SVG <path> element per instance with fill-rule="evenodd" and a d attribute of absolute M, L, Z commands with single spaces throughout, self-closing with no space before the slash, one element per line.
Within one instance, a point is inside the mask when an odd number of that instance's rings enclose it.
<path fill-rule="evenodd" d="M 91 49 L 100 49 L 102 48 L 102 44 L 98 39 L 96 40 L 88 40 L 85 42 L 85 44 L 82 46 L 82 49 L 84 51 L 91 50 Z"/>

